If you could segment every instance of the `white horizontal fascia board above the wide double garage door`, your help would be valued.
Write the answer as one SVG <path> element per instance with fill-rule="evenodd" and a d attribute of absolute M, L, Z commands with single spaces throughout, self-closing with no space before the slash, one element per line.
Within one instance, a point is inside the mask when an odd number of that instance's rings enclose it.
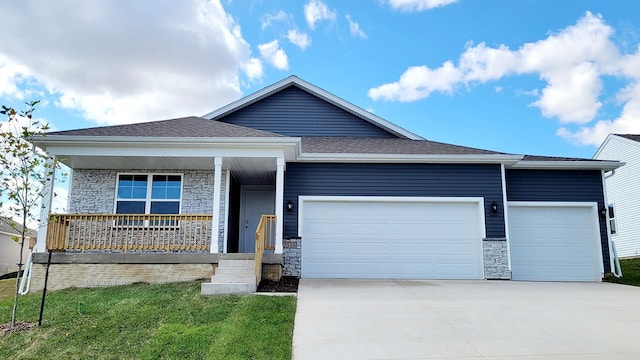
<path fill-rule="evenodd" d="M 522 155 L 437 155 L 437 154 L 335 154 L 303 153 L 300 162 L 392 162 L 392 163 L 475 163 L 515 164 Z"/>

